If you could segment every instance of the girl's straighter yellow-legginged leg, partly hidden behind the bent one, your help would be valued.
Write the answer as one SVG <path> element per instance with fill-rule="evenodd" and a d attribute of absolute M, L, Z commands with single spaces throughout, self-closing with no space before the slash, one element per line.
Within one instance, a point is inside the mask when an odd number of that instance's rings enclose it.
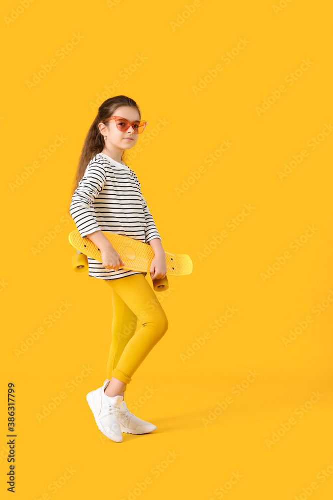
<path fill-rule="evenodd" d="M 120 279 L 120 278 L 119 278 Z M 122 278 L 121 278 L 122 279 Z M 134 335 L 137 326 L 137 317 L 131 309 L 125 304 L 123 299 L 112 289 L 112 324 L 111 324 L 111 345 L 109 350 L 109 357 L 106 364 L 106 378 L 111 379 L 112 371 L 116 367 L 119 358 L 124 350 L 128 340 Z M 124 396 L 126 384 L 116 378 L 112 380 L 112 387 L 114 394 Z M 110 385 L 110 384 L 108 384 Z M 110 387 L 108 392 L 110 392 Z"/>

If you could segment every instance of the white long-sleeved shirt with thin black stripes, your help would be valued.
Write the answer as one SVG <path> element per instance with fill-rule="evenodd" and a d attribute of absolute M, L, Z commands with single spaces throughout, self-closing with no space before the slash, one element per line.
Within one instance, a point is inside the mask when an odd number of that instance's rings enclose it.
<path fill-rule="evenodd" d="M 135 172 L 105 153 L 97 153 L 89 161 L 73 193 L 69 211 L 82 237 L 100 229 L 144 243 L 153 238 L 162 241 Z M 91 257 L 88 268 L 89 276 L 101 279 L 140 274 L 131 269 L 106 269 L 102 262 Z"/>

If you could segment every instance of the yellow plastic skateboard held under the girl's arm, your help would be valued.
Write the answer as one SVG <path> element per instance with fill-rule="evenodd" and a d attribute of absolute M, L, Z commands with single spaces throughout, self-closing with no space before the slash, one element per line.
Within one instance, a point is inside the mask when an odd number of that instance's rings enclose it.
<path fill-rule="evenodd" d="M 125 265 L 122 269 L 132 269 L 133 271 L 149 272 L 150 264 L 155 256 L 154 250 L 148 243 L 143 243 L 138 239 L 133 239 L 122 234 L 110 231 L 102 231 L 104 236 L 110 241 L 113 248 L 119 253 Z M 68 235 L 69 243 L 76 248 L 76 255 L 72 257 L 73 270 L 76 272 L 88 270 L 88 257 L 102 261 L 100 249 L 89 239 L 83 238 L 78 230 L 71 231 Z M 81 253 L 79 253 L 81 252 Z M 167 264 L 167 274 L 173 276 L 183 276 L 191 274 L 193 269 L 192 260 L 185 253 L 165 252 Z M 153 279 L 155 291 L 166 290 L 168 285 L 167 276 Z"/>

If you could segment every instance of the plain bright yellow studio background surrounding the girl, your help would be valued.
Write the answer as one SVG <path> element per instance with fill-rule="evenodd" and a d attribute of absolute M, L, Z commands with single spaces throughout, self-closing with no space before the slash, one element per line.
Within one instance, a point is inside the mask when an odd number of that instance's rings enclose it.
<path fill-rule="evenodd" d="M 332 497 L 331 12 L 324 0 L 278 5 L 2 3 L 1 494 L 10 497 L 6 393 L 14 382 L 16 498 Z M 82 38 L 60 56 L 75 33 Z M 247 44 L 237 49 L 240 39 Z M 56 65 L 29 88 L 52 58 Z M 205 88 L 195 91 L 200 81 Z M 286 91 L 273 98 L 281 85 Z M 111 297 L 97 279 L 72 271 L 75 224 L 66 216 L 85 134 L 98 105 L 118 94 L 148 120 L 128 164 L 163 247 L 193 260 L 191 275 L 169 276 L 169 291 L 158 293 L 169 329 L 126 392 L 157 430 L 123 434 L 122 443 L 104 439 L 85 399 L 105 378 Z M 54 148 L 57 135 L 63 143 Z M 208 164 L 223 140 L 232 145 Z M 302 150 L 308 155 L 281 180 Z M 253 209 L 242 217 L 245 204 Z M 70 305 L 47 326 L 61 301 Z M 214 331 L 228 306 L 237 311 Z M 249 370 L 258 375 L 247 382 Z"/>

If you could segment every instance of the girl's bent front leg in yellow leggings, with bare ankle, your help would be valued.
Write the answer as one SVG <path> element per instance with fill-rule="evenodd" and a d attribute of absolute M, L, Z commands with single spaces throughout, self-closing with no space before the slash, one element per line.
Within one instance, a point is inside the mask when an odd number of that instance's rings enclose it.
<path fill-rule="evenodd" d="M 168 319 L 154 290 L 143 274 L 132 274 L 124 278 L 104 280 L 104 282 L 136 315 L 140 325 L 134 334 L 127 336 L 126 345 L 118 356 L 111 372 L 111 380 L 105 389 L 105 394 L 116 395 L 121 394 L 118 382 L 128 384 L 132 380 L 131 377 L 136 369 L 167 331 Z M 122 310 L 128 318 L 127 309 Z M 115 391 L 116 394 L 114 394 Z"/>

